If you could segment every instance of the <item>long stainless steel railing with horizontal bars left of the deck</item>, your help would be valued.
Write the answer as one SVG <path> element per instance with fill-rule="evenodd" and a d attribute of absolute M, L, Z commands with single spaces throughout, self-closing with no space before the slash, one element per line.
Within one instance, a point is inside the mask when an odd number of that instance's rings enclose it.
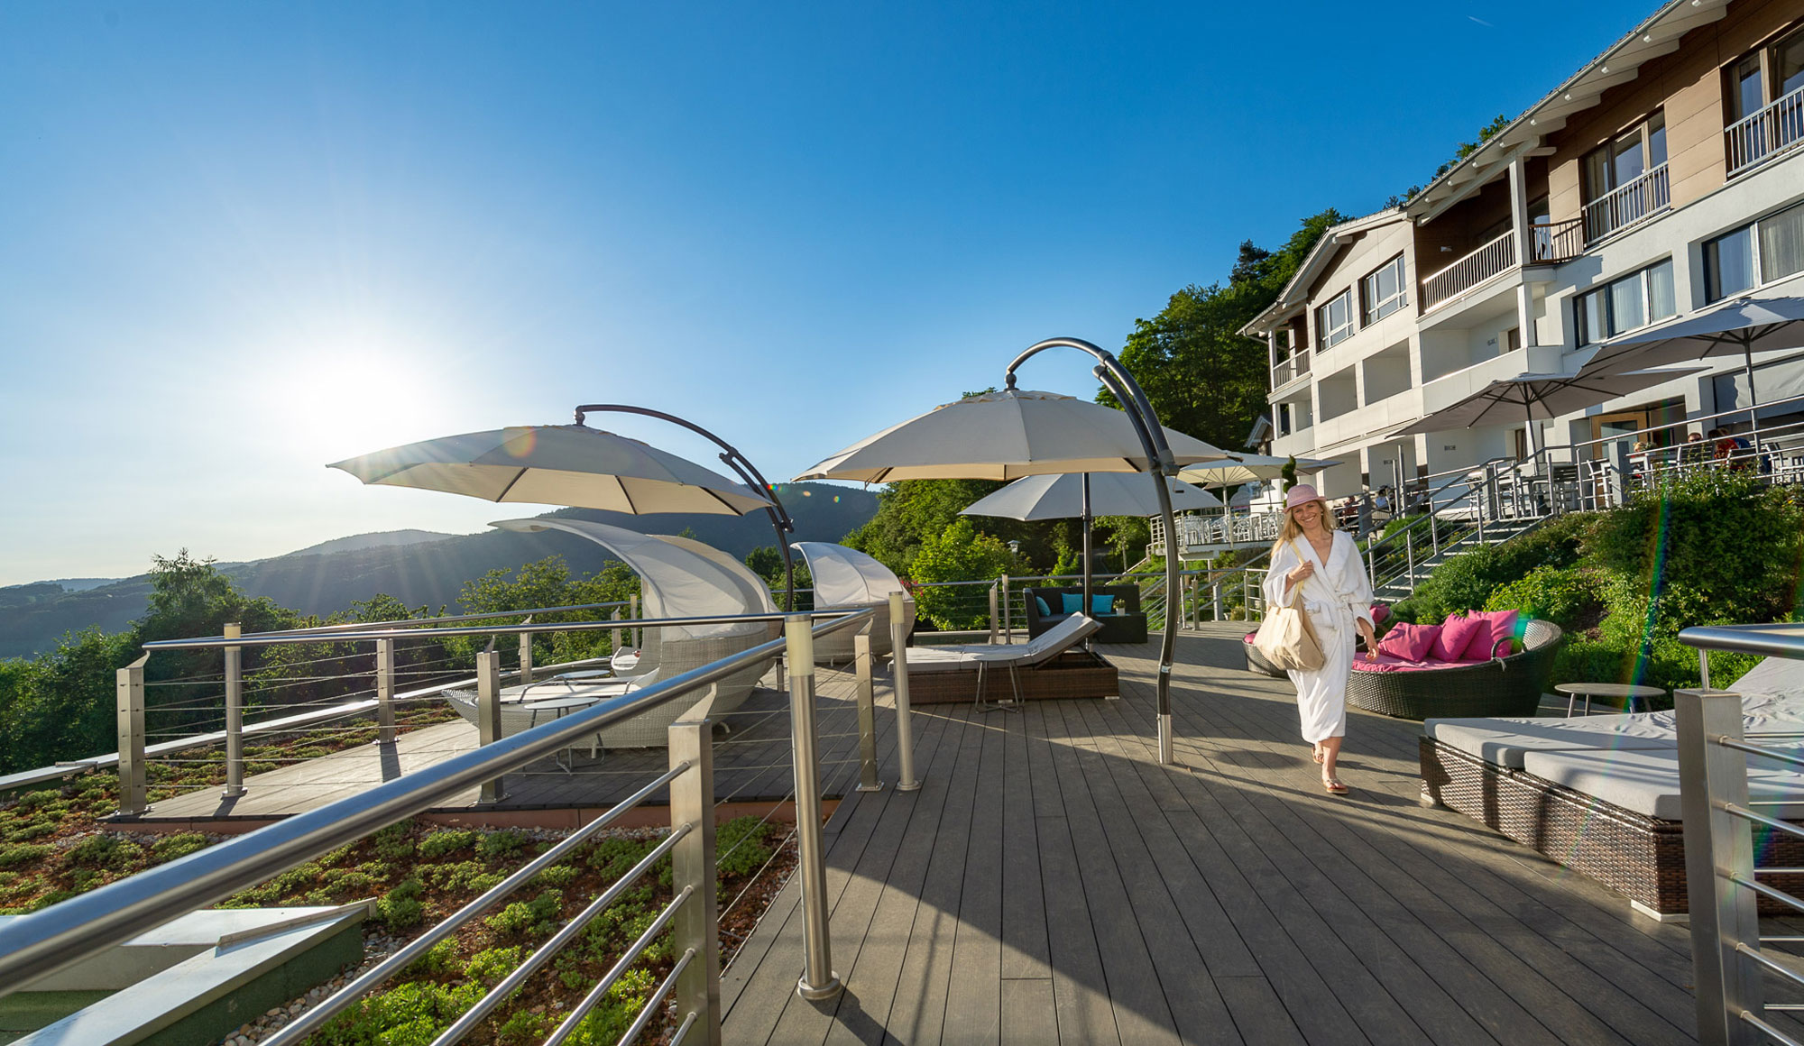
<path fill-rule="evenodd" d="M 359 795 L 292 815 L 272 826 L 240 835 L 216 846 L 200 849 L 189 857 L 152 867 L 130 878 L 103 885 L 38 913 L 20 916 L 0 925 L 0 994 L 16 990 L 18 985 L 43 974 L 65 968 L 99 950 L 117 945 L 146 929 L 161 925 L 170 918 L 224 900 L 226 896 L 263 882 L 301 862 L 325 855 L 339 846 L 355 842 L 388 824 L 424 812 L 451 795 L 502 774 L 520 770 L 527 763 L 552 756 L 572 747 L 583 738 L 594 736 L 599 729 L 630 720 L 651 709 L 667 705 L 684 696 L 691 696 L 704 687 L 711 687 L 727 676 L 787 653 L 790 664 L 790 711 L 792 711 L 792 765 L 796 774 L 797 801 L 797 849 L 803 867 L 805 914 L 810 934 L 806 945 L 806 974 L 799 990 L 819 997 L 832 994 L 837 981 L 832 979 L 832 961 L 826 954 L 826 907 L 823 896 L 823 848 L 819 817 L 819 766 L 814 756 L 814 653 L 812 642 L 819 635 L 835 633 L 844 628 L 864 626 L 875 617 L 873 610 L 859 611 L 821 611 L 796 615 L 738 615 L 720 619 L 673 619 L 646 622 L 662 624 L 720 624 L 743 620 L 783 620 L 785 638 L 759 644 L 743 653 L 716 660 L 695 671 L 657 682 L 637 693 L 599 702 L 588 709 L 579 709 L 541 727 L 529 729 L 512 738 L 496 739 L 473 752 L 447 757 L 424 770 L 415 770 L 384 784 L 373 786 Z M 824 619 L 815 624 L 815 619 Z M 568 622 L 543 626 L 489 626 L 447 629 L 464 633 L 491 635 L 496 631 L 514 631 L 530 635 L 539 629 L 568 628 L 608 628 L 610 622 Z M 355 633 L 357 638 L 379 638 L 397 629 L 366 629 Z M 229 646 L 280 644 L 283 635 L 245 635 L 245 637 L 209 637 L 191 640 L 170 640 L 159 644 L 164 649 L 226 649 Z M 861 644 L 864 646 L 864 644 Z M 866 647 L 868 651 L 868 647 Z M 146 655 L 148 656 L 148 655 Z M 483 655 L 487 664 L 480 674 L 494 671 L 492 655 Z M 859 660 L 859 700 L 870 700 L 870 656 Z M 898 698 L 906 693 L 906 660 L 897 664 Z M 492 687 L 485 687 L 491 689 Z M 898 743 L 907 745 L 904 720 L 907 718 L 906 700 L 898 700 Z M 861 709 L 861 725 L 870 721 L 870 709 Z M 400 952 L 390 956 L 375 968 L 368 970 L 341 992 L 330 996 L 303 1017 L 285 1026 L 276 1037 L 265 1039 L 274 1046 L 298 1042 L 310 1030 L 319 1028 L 334 1014 L 345 1010 L 372 988 L 388 979 L 393 972 L 417 959 L 433 943 L 444 940 L 458 925 L 469 922 L 494 902 L 505 898 L 521 884 L 530 880 L 545 866 L 568 855 L 570 849 L 592 837 L 595 831 L 615 822 L 628 810 L 648 799 L 660 788 L 669 788 L 671 797 L 671 833 L 621 882 L 608 887 L 595 898 L 572 923 L 559 931 L 552 941 L 534 952 L 514 974 L 496 990 L 489 992 L 487 1005 L 478 1005 L 464 1019 L 447 1028 L 437 1042 L 460 1041 L 498 1001 L 507 999 L 520 981 L 548 961 L 557 947 L 572 940 L 590 920 L 594 920 L 608 902 L 617 898 L 633 880 L 664 855 L 673 858 L 675 900 L 653 920 L 653 925 L 628 949 L 606 977 L 584 997 L 575 1012 L 547 1039 L 548 1044 L 561 1042 L 577 1026 L 583 1015 L 606 994 L 628 965 L 662 931 L 673 929 L 676 934 L 673 954 L 678 956 L 671 974 L 653 992 L 646 1012 L 635 1023 L 624 1041 L 639 1035 L 666 997 L 676 999 L 680 1028 L 675 1041 L 700 1035 L 696 1041 L 720 1041 L 720 970 L 718 970 L 718 913 L 716 913 L 716 871 L 713 855 L 714 833 L 714 788 L 713 788 L 713 741 L 711 721 L 676 721 L 669 727 L 669 770 L 642 786 L 631 797 L 610 810 L 597 822 L 566 837 L 548 853 L 541 855 L 527 867 L 516 871 L 476 902 L 471 902 L 438 927 L 428 931 L 420 940 L 410 943 Z M 868 779 L 875 779 L 875 738 L 861 738 L 862 757 L 871 761 Z M 126 774 L 130 754 L 121 752 L 121 775 Z M 911 761 L 904 759 L 906 784 L 913 781 Z M 814 869 L 814 871 L 810 871 Z M 826 977 L 819 972 L 824 970 Z"/>

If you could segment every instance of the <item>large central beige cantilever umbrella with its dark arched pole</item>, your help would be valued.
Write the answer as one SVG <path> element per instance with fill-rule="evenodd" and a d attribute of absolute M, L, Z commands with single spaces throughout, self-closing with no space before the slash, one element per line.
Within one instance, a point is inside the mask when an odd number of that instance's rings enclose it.
<path fill-rule="evenodd" d="M 1075 397 L 1023 391 L 1016 370 L 1048 348 L 1075 348 L 1097 364 L 1090 373 L 1128 409 Z M 925 415 L 891 426 L 805 471 L 799 480 L 1019 480 L 1045 473 L 1158 473 L 1212 458 L 1232 458 L 1218 447 L 1158 424 L 1133 375 L 1104 348 L 1077 337 L 1050 337 L 1028 346 L 1003 372 L 1003 391 L 969 395 Z M 1174 528 L 1171 496 L 1155 487 L 1165 534 Z M 1084 606 L 1090 606 L 1090 548 L 1084 548 Z M 1178 593 L 1178 557 L 1165 557 L 1165 592 Z M 1165 613 L 1158 671 L 1158 757 L 1173 763 L 1171 660 L 1178 615 Z"/>

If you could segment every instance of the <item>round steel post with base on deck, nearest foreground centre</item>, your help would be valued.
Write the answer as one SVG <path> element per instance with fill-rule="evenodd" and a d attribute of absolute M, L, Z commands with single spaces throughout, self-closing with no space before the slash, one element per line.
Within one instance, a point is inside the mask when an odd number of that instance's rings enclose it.
<path fill-rule="evenodd" d="M 783 620 L 790 676 L 790 761 L 796 768 L 796 862 L 801 873 L 803 974 L 796 994 L 832 999 L 842 988 L 833 974 L 833 941 L 826 922 L 826 853 L 821 846 L 821 766 L 814 748 L 814 619 Z"/>

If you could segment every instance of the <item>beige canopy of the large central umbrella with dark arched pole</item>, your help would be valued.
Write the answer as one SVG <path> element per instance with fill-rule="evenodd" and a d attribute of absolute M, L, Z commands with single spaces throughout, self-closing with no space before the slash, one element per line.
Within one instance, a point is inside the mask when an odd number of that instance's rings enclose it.
<path fill-rule="evenodd" d="M 1164 429 L 1176 463 L 1229 453 Z M 797 480 L 1019 480 L 1046 473 L 1149 473 L 1133 420 L 1048 391 L 978 393 L 851 444 Z"/>

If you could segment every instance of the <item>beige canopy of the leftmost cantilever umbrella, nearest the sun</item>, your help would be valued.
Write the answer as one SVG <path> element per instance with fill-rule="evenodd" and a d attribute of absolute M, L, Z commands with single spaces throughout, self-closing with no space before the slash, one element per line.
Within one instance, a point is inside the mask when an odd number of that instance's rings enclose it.
<path fill-rule="evenodd" d="M 364 483 L 612 512 L 745 516 L 770 498 L 649 444 L 588 426 L 440 436 L 327 465 Z"/>

